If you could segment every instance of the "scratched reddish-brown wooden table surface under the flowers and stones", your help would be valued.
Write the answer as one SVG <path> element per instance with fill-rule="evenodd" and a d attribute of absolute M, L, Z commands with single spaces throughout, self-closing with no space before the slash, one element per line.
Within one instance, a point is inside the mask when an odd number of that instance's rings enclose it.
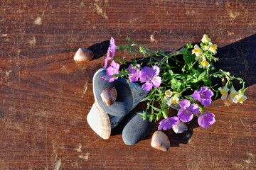
<path fill-rule="evenodd" d="M 254 0 L 1 0 L 0 169 L 256 169 L 255 8 Z M 215 124 L 169 130 L 168 152 L 150 146 L 157 123 L 133 146 L 118 129 L 109 140 L 92 131 L 92 77 L 111 36 L 175 51 L 204 33 L 218 45 L 216 67 L 247 81 L 245 103 L 213 101 Z M 94 60 L 75 63 L 79 47 Z"/>

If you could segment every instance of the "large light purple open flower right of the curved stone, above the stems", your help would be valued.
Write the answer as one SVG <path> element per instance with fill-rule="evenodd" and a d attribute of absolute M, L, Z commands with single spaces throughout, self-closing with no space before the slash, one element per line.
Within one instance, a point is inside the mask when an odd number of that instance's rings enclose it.
<path fill-rule="evenodd" d="M 159 87 L 161 84 L 161 77 L 158 76 L 160 72 L 159 67 L 154 65 L 150 67 L 144 67 L 141 72 L 140 81 L 145 83 L 142 85 L 144 91 L 150 91 L 152 87 Z"/>

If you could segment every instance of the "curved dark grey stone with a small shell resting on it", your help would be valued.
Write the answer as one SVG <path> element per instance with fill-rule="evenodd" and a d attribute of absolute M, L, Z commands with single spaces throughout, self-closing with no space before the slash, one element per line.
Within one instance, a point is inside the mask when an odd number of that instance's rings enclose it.
<path fill-rule="evenodd" d="M 110 115 L 124 116 L 132 110 L 132 92 L 127 84 L 127 80 L 119 77 L 117 80 L 112 81 L 111 83 L 107 80 L 100 80 L 101 76 L 106 76 L 106 70 L 100 69 L 95 73 L 92 84 L 93 84 L 93 93 L 100 107 Z M 100 97 L 100 94 L 104 89 L 109 86 L 114 86 L 117 89 L 117 99 L 111 105 L 107 106 Z"/>

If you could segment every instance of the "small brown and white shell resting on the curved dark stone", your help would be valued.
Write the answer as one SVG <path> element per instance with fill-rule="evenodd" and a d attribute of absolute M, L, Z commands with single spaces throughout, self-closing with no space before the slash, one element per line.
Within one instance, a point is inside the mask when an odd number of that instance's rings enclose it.
<path fill-rule="evenodd" d="M 107 105 L 110 106 L 116 101 L 117 99 L 117 89 L 114 86 L 107 87 L 102 91 L 100 94 L 102 101 Z"/>

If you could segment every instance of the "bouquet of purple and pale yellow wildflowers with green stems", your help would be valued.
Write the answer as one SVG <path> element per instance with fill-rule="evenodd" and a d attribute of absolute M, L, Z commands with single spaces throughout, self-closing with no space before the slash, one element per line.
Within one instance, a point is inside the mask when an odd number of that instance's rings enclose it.
<path fill-rule="evenodd" d="M 148 101 L 142 117 L 149 118 L 150 121 L 157 121 L 164 117 L 159 123 L 159 130 L 170 129 L 180 121 L 188 123 L 193 116 L 198 117 L 198 125 L 203 128 L 213 125 L 215 115 L 204 110 L 212 102 L 213 91 L 215 91 L 215 98 L 221 94 L 223 101 L 227 98 L 229 91 L 234 103 L 242 103 L 247 99 L 244 95 L 245 81 L 231 76 L 229 72 L 222 69 L 215 72 L 213 63 L 218 61 L 218 58 L 214 57 L 218 46 L 211 42 L 208 35 L 203 35 L 200 46 L 189 43 L 181 50 L 167 55 L 144 47 L 144 44 L 137 44 L 131 38 L 127 38 L 127 41 L 127 45 L 117 46 L 114 38 L 111 38 L 104 66 L 107 76 L 102 76 L 101 80 L 111 82 L 118 77 L 124 77 L 128 81 L 137 81 L 142 84 L 142 89 L 149 91 L 148 96 L 142 100 Z M 114 57 L 117 49 L 126 49 L 128 55 L 132 55 L 134 60 Z M 112 62 L 107 67 L 111 59 Z M 119 70 L 120 64 L 128 63 L 129 67 Z M 213 77 L 220 78 L 223 82 L 223 86 L 218 90 L 213 89 L 218 85 L 212 83 Z M 242 84 L 242 89 L 239 91 L 234 89 L 232 81 L 235 79 Z M 169 108 L 176 108 L 177 116 L 168 118 L 166 111 Z"/>

